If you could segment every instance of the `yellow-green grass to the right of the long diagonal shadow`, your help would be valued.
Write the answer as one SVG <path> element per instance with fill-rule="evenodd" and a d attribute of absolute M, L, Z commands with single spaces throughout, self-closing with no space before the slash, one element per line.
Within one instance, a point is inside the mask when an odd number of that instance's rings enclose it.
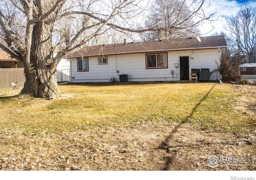
<path fill-rule="evenodd" d="M 202 130 L 217 132 L 238 134 L 255 130 L 256 118 L 247 116 L 234 107 L 236 97 L 240 94 L 234 92 L 232 87 L 229 84 L 214 87 L 194 110 L 189 122 L 198 124 Z"/>

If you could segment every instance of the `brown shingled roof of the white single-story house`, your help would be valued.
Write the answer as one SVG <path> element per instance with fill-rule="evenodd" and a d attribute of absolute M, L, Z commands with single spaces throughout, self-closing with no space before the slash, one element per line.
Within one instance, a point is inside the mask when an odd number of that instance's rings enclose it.
<path fill-rule="evenodd" d="M 81 56 L 102 56 L 113 54 L 128 54 L 138 52 L 160 52 L 170 50 L 192 50 L 206 48 L 226 48 L 224 36 L 201 37 L 198 43 L 197 38 L 177 38 L 162 41 L 130 42 L 122 44 L 106 44 L 100 46 L 88 46 L 67 55 L 67 58 Z"/>

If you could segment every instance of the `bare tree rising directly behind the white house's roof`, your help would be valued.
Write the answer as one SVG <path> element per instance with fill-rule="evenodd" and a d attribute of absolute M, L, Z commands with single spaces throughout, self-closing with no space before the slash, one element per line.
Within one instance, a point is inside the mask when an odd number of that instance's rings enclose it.
<path fill-rule="evenodd" d="M 154 0 L 145 24 L 155 31 L 144 33 L 144 39 L 184 38 L 201 34 L 198 26 L 201 22 L 212 21 L 210 18 L 213 15 L 204 14 L 204 3 L 205 0 L 192 3 L 186 0 Z"/>

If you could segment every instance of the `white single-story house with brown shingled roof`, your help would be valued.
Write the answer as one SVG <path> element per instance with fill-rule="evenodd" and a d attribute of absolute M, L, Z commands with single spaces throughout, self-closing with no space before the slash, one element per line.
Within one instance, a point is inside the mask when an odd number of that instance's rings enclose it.
<path fill-rule="evenodd" d="M 71 82 L 180 81 L 207 69 L 209 80 L 219 80 L 224 36 L 178 38 L 88 46 L 66 56 Z M 201 71 L 200 71 L 201 69 Z M 207 73 L 207 72 L 206 72 Z"/>

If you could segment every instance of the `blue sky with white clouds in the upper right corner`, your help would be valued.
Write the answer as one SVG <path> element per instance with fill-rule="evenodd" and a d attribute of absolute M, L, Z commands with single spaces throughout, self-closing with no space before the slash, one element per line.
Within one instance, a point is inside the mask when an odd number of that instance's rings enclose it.
<path fill-rule="evenodd" d="M 208 7 L 207 9 L 205 7 L 205 12 L 207 14 L 212 14 L 217 10 L 217 13 L 214 14 L 212 18 L 213 19 L 218 18 L 218 20 L 212 23 L 212 25 L 215 26 L 214 30 L 212 30 L 213 28 L 211 24 L 203 24 L 200 27 L 202 31 L 202 36 L 210 36 L 214 32 L 221 32 L 221 31 L 229 33 L 224 29 L 224 27 L 226 26 L 225 18 L 226 16 L 229 16 L 231 14 L 236 14 L 236 12 L 240 9 L 241 6 L 252 6 L 256 8 L 256 1 L 255 0 L 210 0 L 210 7 Z"/>

